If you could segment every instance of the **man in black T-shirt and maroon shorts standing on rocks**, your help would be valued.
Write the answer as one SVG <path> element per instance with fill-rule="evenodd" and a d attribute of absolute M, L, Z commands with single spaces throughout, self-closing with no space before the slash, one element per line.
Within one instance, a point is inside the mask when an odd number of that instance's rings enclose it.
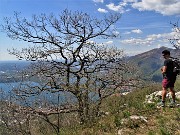
<path fill-rule="evenodd" d="M 170 103 L 170 107 L 174 107 L 175 105 L 175 91 L 174 84 L 176 81 L 176 75 L 173 72 L 174 66 L 173 61 L 170 56 L 170 51 L 164 50 L 162 51 L 162 56 L 164 57 L 164 65 L 161 68 L 161 72 L 163 75 L 162 80 L 162 101 L 159 103 L 159 106 L 165 107 L 165 99 L 168 88 L 170 89 L 170 93 L 172 96 L 172 101 Z"/>

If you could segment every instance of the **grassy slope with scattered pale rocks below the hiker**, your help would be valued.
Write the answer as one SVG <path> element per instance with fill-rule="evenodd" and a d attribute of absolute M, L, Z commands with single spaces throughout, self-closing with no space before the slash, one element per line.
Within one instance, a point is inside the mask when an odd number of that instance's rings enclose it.
<path fill-rule="evenodd" d="M 180 90 L 180 80 L 176 89 Z M 160 84 L 135 90 L 126 96 L 112 96 L 103 102 L 101 108 L 108 115 L 100 117 L 93 125 L 64 128 L 62 134 L 117 135 L 118 130 L 123 129 L 126 135 L 180 135 L 180 108 L 157 109 L 156 104 L 143 103 L 146 95 L 159 90 Z M 147 117 L 148 122 L 128 121 L 125 125 L 121 124 L 123 118 L 131 115 Z"/>

